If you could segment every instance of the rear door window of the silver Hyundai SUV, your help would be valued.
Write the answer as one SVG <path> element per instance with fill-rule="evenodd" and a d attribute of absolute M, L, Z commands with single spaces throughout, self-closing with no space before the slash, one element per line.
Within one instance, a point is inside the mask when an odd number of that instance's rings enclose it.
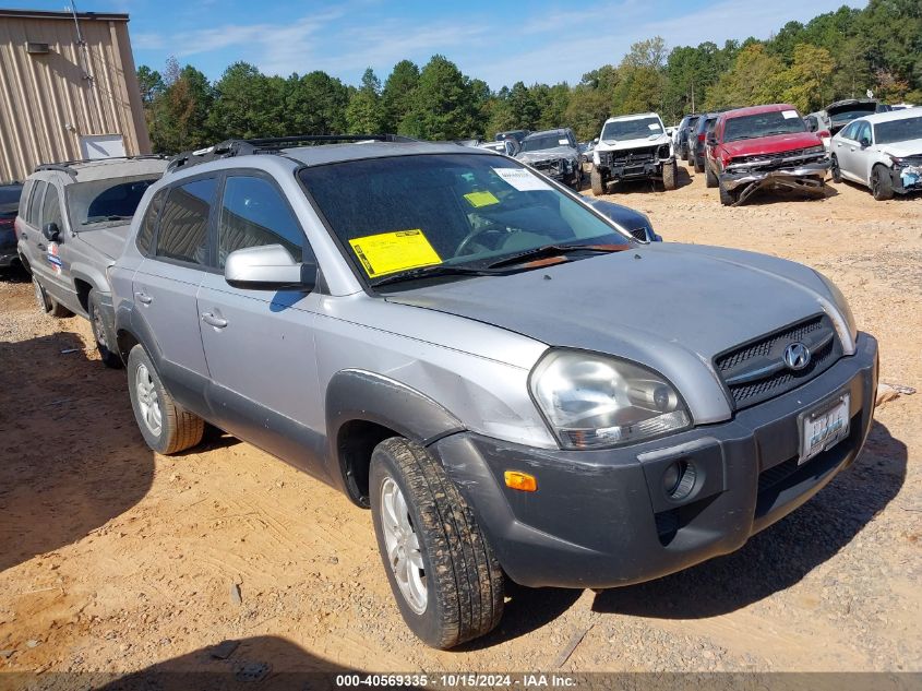
<path fill-rule="evenodd" d="M 157 233 L 157 257 L 208 264 L 208 215 L 216 180 L 205 178 L 170 189 Z"/>

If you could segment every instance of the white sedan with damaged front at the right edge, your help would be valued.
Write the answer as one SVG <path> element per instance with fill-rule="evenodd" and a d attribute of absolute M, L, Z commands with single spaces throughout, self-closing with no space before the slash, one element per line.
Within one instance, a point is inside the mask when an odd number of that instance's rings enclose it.
<path fill-rule="evenodd" d="M 922 190 L 922 108 L 852 120 L 833 138 L 831 174 L 878 201 Z"/>

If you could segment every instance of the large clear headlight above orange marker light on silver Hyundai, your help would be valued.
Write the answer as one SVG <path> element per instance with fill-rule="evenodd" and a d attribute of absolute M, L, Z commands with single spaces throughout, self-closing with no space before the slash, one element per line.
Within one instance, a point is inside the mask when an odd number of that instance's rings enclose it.
<path fill-rule="evenodd" d="M 690 427 L 663 377 L 625 360 L 551 350 L 530 377 L 531 394 L 564 449 L 615 446 Z"/>

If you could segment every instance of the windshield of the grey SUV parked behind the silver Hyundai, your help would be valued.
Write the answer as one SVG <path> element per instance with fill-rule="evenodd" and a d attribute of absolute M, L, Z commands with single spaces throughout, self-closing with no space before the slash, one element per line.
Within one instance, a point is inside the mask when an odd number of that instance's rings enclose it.
<path fill-rule="evenodd" d="M 145 190 L 158 179 L 143 175 L 71 184 L 67 190 L 72 227 L 79 231 L 130 221 Z"/>

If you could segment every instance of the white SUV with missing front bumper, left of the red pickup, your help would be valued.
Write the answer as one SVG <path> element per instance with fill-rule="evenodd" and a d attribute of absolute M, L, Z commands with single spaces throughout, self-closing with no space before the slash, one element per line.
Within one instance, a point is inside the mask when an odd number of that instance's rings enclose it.
<path fill-rule="evenodd" d="M 656 112 L 609 118 L 592 151 L 592 193 L 604 194 L 622 180 L 661 180 L 678 186 L 679 170 L 672 139 Z"/>

